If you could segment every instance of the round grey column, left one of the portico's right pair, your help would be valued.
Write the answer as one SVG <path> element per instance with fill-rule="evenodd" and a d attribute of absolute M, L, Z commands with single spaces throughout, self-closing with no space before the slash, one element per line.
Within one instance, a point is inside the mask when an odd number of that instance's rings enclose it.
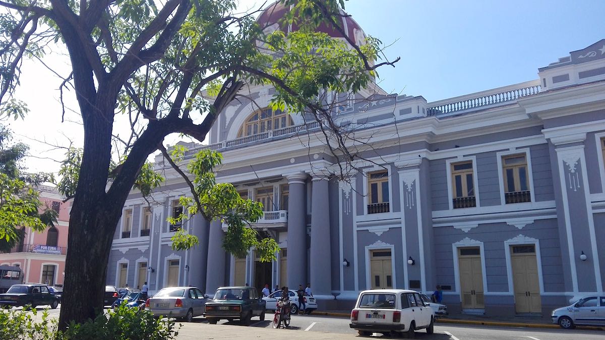
<path fill-rule="evenodd" d="M 288 234 L 286 259 L 287 286 L 298 288 L 307 281 L 307 174 L 300 172 L 287 176 L 290 188 L 288 203 Z M 283 283 L 282 283 L 283 284 Z"/>

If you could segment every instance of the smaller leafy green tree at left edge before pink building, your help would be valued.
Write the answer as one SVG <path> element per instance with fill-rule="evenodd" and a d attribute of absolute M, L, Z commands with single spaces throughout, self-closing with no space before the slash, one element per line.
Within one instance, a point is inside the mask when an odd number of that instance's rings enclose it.
<path fill-rule="evenodd" d="M 50 178 L 25 173 L 20 163 L 28 147 L 11 144 L 11 139 L 10 131 L 0 125 L 0 252 L 8 252 L 21 241 L 22 227 L 41 232 L 56 221 L 56 212 L 43 206 L 34 188 Z"/>

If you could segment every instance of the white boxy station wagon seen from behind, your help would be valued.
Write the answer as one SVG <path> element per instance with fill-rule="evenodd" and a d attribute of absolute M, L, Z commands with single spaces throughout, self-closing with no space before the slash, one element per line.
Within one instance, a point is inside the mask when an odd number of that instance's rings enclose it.
<path fill-rule="evenodd" d="M 359 335 L 406 333 L 413 338 L 414 330 L 427 329 L 433 334 L 434 319 L 433 309 L 414 290 L 371 289 L 359 293 L 349 326 Z"/>

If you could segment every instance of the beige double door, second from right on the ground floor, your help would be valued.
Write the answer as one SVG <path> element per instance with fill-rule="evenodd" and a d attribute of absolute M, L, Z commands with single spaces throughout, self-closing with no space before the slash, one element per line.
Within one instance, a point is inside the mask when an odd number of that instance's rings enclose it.
<path fill-rule="evenodd" d="M 479 247 L 458 248 L 460 295 L 462 295 L 463 309 L 485 308 L 480 251 Z"/>

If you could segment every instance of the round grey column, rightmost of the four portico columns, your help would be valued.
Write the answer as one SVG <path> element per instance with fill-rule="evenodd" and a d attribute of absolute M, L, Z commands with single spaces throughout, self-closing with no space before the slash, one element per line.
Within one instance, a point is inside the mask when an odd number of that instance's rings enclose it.
<path fill-rule="evenodd" d="M 318 174 L 313 177 L 310 269 L 313 295 L 316 298 L 333 299 L 328 183 L 327 175 Z"/>

